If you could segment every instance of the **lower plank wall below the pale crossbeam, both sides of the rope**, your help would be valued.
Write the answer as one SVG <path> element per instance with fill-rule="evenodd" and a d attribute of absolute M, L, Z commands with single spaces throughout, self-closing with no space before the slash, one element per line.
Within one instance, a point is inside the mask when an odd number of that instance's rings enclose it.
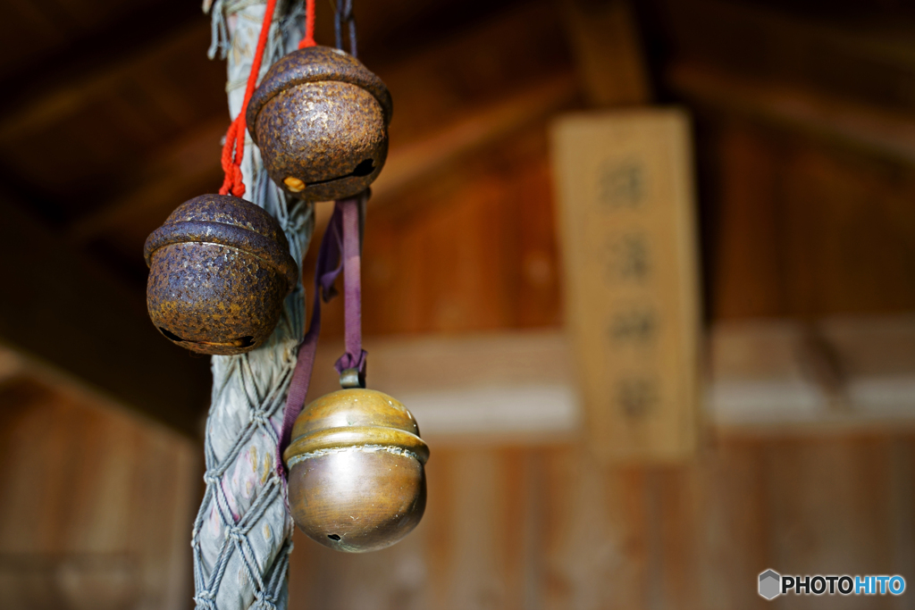
<path fill-rule="evenodd" d="M 189 607 L 199 448 L 31 381 L 2 398 L 0 607 Z M 296 534 L 291 608 L 724 610 L 767 607 L 769 567 L 915 578 L 910 434 L 706 439 L 692 463 L 654 467 L 430 443 L 420 527 L 365 555 Z"/>

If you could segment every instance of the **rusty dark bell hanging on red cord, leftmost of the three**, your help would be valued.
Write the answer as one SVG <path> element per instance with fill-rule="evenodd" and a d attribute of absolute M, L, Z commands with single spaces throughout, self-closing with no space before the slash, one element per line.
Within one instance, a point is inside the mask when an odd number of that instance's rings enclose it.
<path fill-rule="evenodd" d="M 298 267 L 279 223 L 231 195 L 181 204 L 146 238 L 146 308 L 182 348 L 241 354 L 270 337 Z"/>

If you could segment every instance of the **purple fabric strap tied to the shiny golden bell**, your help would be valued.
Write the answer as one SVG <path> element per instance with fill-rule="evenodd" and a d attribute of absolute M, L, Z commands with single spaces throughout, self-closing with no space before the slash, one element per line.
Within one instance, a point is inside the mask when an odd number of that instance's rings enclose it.
<path fill-rule="evenodd" d="M 283 430 L 280 431 L 280 442 L 276 445 L 276 467 L 283 475 L 285 475 L 283 452 L 292 440 L 292 429 L 296 424 L 296 418 L 305 407 L 308 386 L 311 383 L 311 370 L 315 366 L 318 335 L 321 332 L 321 301 L 327 303 L 337 295 L 334 283 L 341 271 L 343 272 L 345 299 L 346 353 L 337 360 L 335 367 L 338 373 L 345 369 L 355 368 L 359 369 L 361 376 L 365 375 L 367 354 L 362 349 L 360 225 L 367 198 L 368 192 L 355 198 L 337 201 L 328 228 L 321 239 L 318 264 L 315 268 L 315 299 L 311 322 L 298 347 L 296 369 L 293 371 L 289 394 L 286 397 Z M 333 266 L 335 264 L 336 267 Z"/>

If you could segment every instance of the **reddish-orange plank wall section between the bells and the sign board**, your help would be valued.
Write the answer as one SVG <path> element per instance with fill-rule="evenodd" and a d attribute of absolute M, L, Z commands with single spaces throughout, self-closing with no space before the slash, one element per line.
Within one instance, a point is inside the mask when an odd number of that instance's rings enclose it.
<path fill-rule="evenodd" d="M 365 334 L 561 325 L 547 146 L 546 125 L 538 124 L 449 166 L 396 206 L 371 210 Z M 304 264 L 308 286 L 317 250 L 316 240 Z M 324 311 L 322 340 L 342 337 L 342 304 Z"/>

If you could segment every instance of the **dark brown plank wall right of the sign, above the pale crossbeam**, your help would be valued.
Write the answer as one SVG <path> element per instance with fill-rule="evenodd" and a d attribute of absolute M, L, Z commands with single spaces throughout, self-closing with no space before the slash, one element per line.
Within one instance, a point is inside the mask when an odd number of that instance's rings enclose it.
<path fill-rule="evenodd" d="M 714 318 L 915 309 L 915 166 L 739 119 L 711 148 Z"/>

